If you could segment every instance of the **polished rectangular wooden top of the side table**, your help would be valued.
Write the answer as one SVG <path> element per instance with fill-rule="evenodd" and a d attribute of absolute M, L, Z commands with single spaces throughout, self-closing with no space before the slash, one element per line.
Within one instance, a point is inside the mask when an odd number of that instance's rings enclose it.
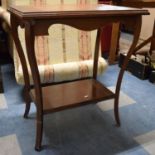
<path fill-rule="evenodd" d="M 148 15 L 147 10 L 119 7 L 113 5 L 43 5 L 43 6 L 11 6 L 9 12 L 22 19 L 27 18 L 59 18 L 59 17 L 93 17 Z"/>

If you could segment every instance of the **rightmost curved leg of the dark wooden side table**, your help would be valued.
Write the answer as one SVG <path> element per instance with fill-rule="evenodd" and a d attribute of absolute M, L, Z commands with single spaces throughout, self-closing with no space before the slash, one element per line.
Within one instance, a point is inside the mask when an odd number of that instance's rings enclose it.
<path fill-rule="evenodd" d="M 127 67 L 129 58 L 131 57 L 131 55 L 134 52 L 134 49 L 137 45 L 138 39 L 139 39 L 139 35 L 140 35 L 140 30 L 141 30 L 141 17 L 137 17 L 135 20 L 133 19 L 133 21 L 135 22 L 134 27 L 133 27 L 133 31 L 134 31 L 134 38 L 133 38 L 133 42 L 132 45 L 129 49 L 129 52 L 124 60 L 124 63 L 122 65 L 122 68 L 119 72 L 119 76 L 117 79 L 117 84 L 116 84 L 116 90 L 115 90 L 115 100 L 114 100 L 114 115 L 115 115 L 115 120 L 116 120 L 116 126 L 120 126 L 120 118 L 119 118 L 119 94 L 120 94 L 120 87 L 121 87 L 121 83 L 122 83 L 122 79 L 123 79 L 123 75 L 124 75 L 124 71 Z"/>

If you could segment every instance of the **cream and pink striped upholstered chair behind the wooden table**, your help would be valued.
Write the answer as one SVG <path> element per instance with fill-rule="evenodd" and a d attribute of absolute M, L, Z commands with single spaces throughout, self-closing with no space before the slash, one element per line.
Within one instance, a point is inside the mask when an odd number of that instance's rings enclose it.
<path fill-rule="evenodd" d="M 97 0 L 10 0 L 7 6 L 12 3 L 36 6 L 45 4 L 85 5 L 95 4 Z M 26 53 L 24 30 L 19 28 L 18 32 Z M 96 31 L 81 31 L 62 24 L 51 26 L 49 36 L 35 37 L 36 60 L 41 82 L 60 82 L 92 76 L 95 39 Z M 19 84 L 23 84 L 22 67 L 16 51 L 14 52 L 14 63 L 16 80 Z M 98 73 L 103 73 L 106 66 L 106 61 L 100 57 Z"/>

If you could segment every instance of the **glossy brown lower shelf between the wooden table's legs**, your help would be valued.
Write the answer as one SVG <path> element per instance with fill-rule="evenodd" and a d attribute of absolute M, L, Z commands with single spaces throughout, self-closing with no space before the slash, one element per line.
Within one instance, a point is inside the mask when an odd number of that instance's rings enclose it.
<path fill-rule="evenodd" d="M 94 79 L 42 87 L 44 113 L 114 98 L 114 93 Z M 35 102 L 34 89 L 31 90 Z M 36 104 L 37 105 L 37 104 Z"/>

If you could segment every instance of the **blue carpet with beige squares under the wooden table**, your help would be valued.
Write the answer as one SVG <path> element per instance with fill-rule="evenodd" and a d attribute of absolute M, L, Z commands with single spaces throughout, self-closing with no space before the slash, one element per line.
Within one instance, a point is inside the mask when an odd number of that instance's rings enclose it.
<path fill-rule="evenodd" d="M 112 91 L 119 68 L 110 66 L 99 80 Z M 43 145 L 35 143 L 35 107 L 23 116 L 22 86 L 13 67 L 2 67 L 5 93 L 0 94 L 0 155 L 154 155 L 155 85 L 126 73 L 120 96 L 120 128 L 114 126 L 113 101 L 100 102 L 45 117 Z"/>

